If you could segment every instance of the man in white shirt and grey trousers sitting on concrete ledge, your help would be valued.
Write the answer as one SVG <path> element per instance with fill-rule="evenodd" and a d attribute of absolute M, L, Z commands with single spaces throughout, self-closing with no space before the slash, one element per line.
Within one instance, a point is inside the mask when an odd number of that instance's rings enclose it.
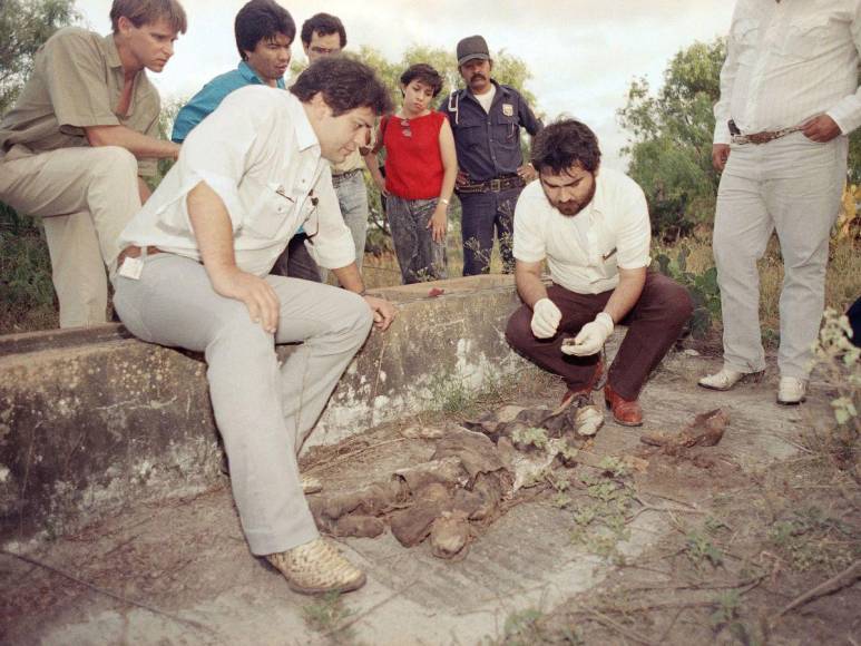
<path fill-rule="evenodd" d="M 120 236 L 123 323 L 145 341 L 205 353 L 251 550 L 303 594 L 365 581 L 320 538 L 296 453 L 372 321 L 385 330 L 394 316 L 364 295 L 329 168 L 390 109 L 374 72 L 342 57 L 309 67 L 290 92 L 238 89 L 189 134 Z M 345 288 L 270 275 L 300 225 Z M 274 344 L 294 342 L 280 366 Z"/>

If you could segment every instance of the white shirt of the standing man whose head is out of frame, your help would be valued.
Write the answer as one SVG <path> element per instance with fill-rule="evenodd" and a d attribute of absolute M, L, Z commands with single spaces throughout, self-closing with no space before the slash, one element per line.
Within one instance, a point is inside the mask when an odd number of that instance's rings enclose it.
<path fill-rule="evenodd" d="M 714 143 L 798 126 L 825 112 L 847 135 L 861 125 L 861 0 L 738 0 Z"/>

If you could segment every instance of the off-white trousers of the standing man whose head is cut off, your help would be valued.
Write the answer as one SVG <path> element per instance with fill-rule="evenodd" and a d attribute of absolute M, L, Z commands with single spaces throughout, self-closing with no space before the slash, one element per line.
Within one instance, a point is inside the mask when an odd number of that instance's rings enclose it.
<path fill-rule="evenodd" d="M 801 133 L 733 145 L 717 189 L 714 257 L 724 322 L 724 364 L 765 368 L 756 261 L 777 232 L 783 256 L 781 376 L 806 379 L 825 304 L 831 227 L 847 176 L 847 137 L 816 144 Z"/>

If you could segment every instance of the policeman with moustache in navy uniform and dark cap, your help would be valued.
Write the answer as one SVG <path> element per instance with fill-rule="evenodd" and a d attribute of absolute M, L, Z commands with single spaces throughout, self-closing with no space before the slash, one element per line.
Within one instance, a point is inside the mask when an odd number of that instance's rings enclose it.
<path fill-rule="evenodd" d="M 520 128 L 531 136 L 542 125 L 515 88 L 490 78 L 493 61 L 481 36 L 458 42 L 458 69 L 467 88 L 451 92 L 440 106 L 454 133 L 462 208 L 463 275 L 490 271 L 496 229 L 502 271 L 511 273 L 515 205 L 535 170 L 524 164 Z"/>

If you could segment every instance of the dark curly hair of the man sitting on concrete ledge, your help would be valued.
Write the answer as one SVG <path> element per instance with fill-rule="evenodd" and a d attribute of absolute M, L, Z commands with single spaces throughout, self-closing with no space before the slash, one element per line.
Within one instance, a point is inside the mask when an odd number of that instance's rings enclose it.
<path fill-rule="evenodd" d="M 355 108 L 371 108 L 375 115 L 392 111 L 389 90 L 374 70 L 345 56 L 326 56 L 312 62 L 290 91 L 303 102 L 322 92 L 335 117 Z"/>

